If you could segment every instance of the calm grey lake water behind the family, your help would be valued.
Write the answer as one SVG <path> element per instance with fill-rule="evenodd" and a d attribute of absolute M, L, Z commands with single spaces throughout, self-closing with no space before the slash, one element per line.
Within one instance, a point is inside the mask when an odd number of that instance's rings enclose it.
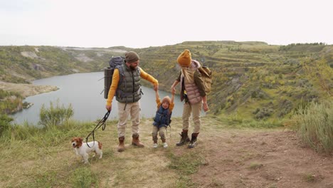
<path fill-rule="evenodd" d="M 68 107 L 72 105 L 74 110 L 73 119 L 80 121 L 97 120 L 104 117 L 107 110 L 105 109 L 104 94 L 100 94 L 104 88 L 104 72 L 96 73 L 76 73 L 71 75 L 60 75 L 51 78 L 44 78 L 41 80 L 34 80 L 34 85 L 56 85 L 59 90 L 50 93 L 41 93 L 26 98 L 24 101 L 33 103 L 31 108 L 22 110 L 12 117 L 14 122 L 22 124 L 24 121 L 37 125 L 39 121 L 39 112 L 42 105 L 50 106 L 50 102 L 55 105 L 57 100 L 60 105 Z M 155 92 L 151 88 L 142 86 L 141 116 L 154 117 L 156 113 Z M 159 90 L 160 98 L 171 93 L 166 93 Z M 174 98 L 174 110 L 172 117 L 181 117 L 183 103 L 180 102 L 179 95 Z M 117 100 L 112 101 L 112 111 L 109 116 L 110 119 L 117 119 Z"/>

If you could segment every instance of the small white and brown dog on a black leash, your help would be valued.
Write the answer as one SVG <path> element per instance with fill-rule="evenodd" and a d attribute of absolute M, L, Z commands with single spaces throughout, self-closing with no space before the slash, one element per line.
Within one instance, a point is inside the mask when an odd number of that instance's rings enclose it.
<path fill-rule="evenodd" d="M 88 146 L 89 145 L 89 146 Z M 74 148 L 74 151 L 76 155 L 81 155 L 83 157 L 83 162 L 85 164 L 88 163 L 89 153 L 95 152 L 98 156 L 100 156 L 100 159 L 102 159 L 102 143 L 101 142 L 83 142 L 82 137 L 73 137 L 72 138 L 72 146 Z M 95 157 L 95 154 L 93 157 Z"/>

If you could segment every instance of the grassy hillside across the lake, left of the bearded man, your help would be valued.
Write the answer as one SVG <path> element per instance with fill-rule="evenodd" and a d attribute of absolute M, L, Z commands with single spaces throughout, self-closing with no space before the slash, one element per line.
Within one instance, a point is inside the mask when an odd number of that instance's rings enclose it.
<path fill-rule="evenodd" d="M 1 46 L 0 80 L 27 83 L 53 75 L 101 71 L 110 56 L 119 56 L 126 49 Z"/>

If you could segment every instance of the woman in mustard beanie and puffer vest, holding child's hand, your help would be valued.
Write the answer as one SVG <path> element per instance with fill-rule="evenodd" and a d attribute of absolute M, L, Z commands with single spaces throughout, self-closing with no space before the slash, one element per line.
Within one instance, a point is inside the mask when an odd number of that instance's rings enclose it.
<path fill-rule="evenodd" d="M 183 131 L 181 132 L 181 140 L 176 143 L 177 146 L 185 145 L 189 142 L 189 148 L 194 148 L 197 145 L 197 137 L 200 132 L 201 108 L 206 112 L 208 104 L 206 100 L 206 92 L 201 78 L 201 73 L 198 71 L 200 68 L 199 61 L 191 59 L 191 52 L 185 50 L 177 58 L 177 63 L 181 66 L 181 73 L 171 86 L 171 93 L 175 92 L 175 87 L 181 83 L 181 101 L 185 100 L 183 108 Z M 194 121 L 194 131 L 189 140 L 189 117 L 192 114 Z"/>

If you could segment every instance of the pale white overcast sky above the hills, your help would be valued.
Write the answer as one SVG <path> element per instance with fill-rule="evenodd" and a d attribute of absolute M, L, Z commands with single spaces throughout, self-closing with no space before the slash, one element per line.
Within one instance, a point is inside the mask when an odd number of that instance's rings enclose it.
<path fill-rule="evenodd" d="M 333 44 L 331 0 L 0 0 L 0 46 Z M 332 1 L 333 2 L 333 1 Z"/>

